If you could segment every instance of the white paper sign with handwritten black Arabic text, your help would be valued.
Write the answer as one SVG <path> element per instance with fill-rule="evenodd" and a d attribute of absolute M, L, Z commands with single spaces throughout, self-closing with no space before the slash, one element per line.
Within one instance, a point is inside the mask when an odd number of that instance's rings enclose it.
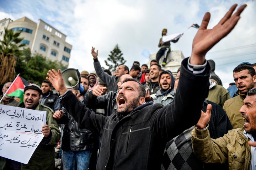
<path fill-rule="evenodd" d="M 0 156 L 27 164 L 45 124 L 46 111 L 0 105 Z"/>

